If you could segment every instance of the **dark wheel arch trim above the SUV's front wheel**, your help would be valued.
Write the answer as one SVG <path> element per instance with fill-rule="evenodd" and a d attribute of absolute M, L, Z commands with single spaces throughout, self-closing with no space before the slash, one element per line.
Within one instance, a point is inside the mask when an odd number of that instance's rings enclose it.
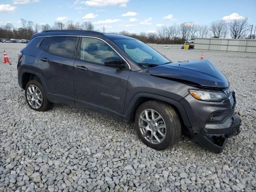
<path fill-rule="evenodd" d="M 124 111 L 123 120 L 125 122 L 134 122 L 134 116 L 137 108 L 142 103 L 150 100 L 158 100 L 170 104 L 176 110 L 182 124 L 184 124 L 185 126 L 190 126 L 188 115 L 186 114 L 186 111 L 183 108 L 182 104 L 171 98 L 149 93 L 137 93 L 132 97 L 126 110 Z"/>

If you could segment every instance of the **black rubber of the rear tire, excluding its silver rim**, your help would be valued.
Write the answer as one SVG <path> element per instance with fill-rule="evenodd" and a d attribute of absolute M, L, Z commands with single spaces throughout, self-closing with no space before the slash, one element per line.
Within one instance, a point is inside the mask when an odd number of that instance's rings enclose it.
<path fill-rule="evenodd" d="M 28 97 L 27 97 L 27 90 L 28 90 L 28 87 L 30 85 L 35 85 L 38 87 L 38 89 L 40 90 L 40 92 L 42 93 L 42 106 L 38 109 L 36 108 L 33 108 L 29 102 L 28 102 Z M 44 91 L 44 88 L 42 86 L 41 83 L 39 83 L 38 81 L 36 80 L 30 80 L 27 84 L 26 84 L 26 88 L 25 88 L 25 98 L 26 98 L 26 101 L 27 101 L 27 104 L 28 106 L 32 109 L 32 110 L 35 110 L 35 111 L 47 111 L 47 110 L 50 110 L 52 108 L 52 105 L 53 103 L 48 101 L 47 99 L 47 96 L 45 94 L 45 91 Z"/>

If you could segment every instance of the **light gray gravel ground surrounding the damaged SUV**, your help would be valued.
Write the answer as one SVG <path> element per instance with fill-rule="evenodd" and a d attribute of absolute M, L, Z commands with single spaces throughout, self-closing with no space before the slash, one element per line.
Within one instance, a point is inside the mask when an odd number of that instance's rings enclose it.
<path fill-rule="evenodd" d="M 17 82 L 23 46 L 0 43 L 0 192 L 256 190 L 256 54 L 204 52 L 229 78 L 242 117 L 241 134 L 215 154 L 184 135 L 172 149 L 152 150 L 134 125 L 64 104 L 30 110 Z M 159 51 L 173 61 L 201 56 Z"/>

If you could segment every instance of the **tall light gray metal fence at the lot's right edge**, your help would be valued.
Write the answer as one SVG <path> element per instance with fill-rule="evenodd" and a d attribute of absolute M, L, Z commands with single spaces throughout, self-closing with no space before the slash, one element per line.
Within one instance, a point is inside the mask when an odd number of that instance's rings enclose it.
<path fill-rule="evenodd" d="M 194 49 L 256 53 L 256 40 L 196 38 Z"/>

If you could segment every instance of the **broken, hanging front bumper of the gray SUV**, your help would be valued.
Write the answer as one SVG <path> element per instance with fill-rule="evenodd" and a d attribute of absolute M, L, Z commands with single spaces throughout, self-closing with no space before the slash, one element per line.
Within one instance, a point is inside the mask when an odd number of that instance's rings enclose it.
<path fill-rule="evenodd" d="M 235 113 L 222 124 L 206 124 L 193 140 L 208 150 L 219 153 L 224 150 L 228 138 L 240 133 L 240 114 Z"/>

